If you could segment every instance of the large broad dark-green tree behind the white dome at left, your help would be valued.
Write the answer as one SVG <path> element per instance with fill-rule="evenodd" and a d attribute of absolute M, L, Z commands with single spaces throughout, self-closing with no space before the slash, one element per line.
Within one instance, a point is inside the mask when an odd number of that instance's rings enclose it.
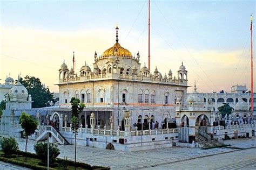
<path fill-rule="evenodd" d="M 48 102 L 53 101 L 50 89 L 48 87 L 44 88 L 39 78 L 27 75 L 24 79 L 19 79 L 19 82 L 23 84 L 32 96 L 32 108 L 42 108 Z"/>

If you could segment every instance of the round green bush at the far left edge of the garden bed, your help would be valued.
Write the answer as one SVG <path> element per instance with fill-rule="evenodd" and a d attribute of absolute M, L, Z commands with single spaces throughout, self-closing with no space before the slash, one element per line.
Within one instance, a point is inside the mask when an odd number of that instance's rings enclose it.
<path fill-rule="evenodd" d="M 2 137 L 1 145 L 2 145 L 2 150 L 4 154 L 8 156 L 16 153 L 19 148 L 17 141 L 15 140 L 15 138 L 12 138 L 12 137 L 10 138 Z"/>

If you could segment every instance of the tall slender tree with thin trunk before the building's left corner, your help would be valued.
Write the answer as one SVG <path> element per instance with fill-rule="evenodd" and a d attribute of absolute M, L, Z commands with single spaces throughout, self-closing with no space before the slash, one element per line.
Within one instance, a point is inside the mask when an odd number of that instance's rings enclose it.
<path fill-rule="evenodd" d="M 80 103 L 79 98 L 72 97 L 71 98 L 71 109 L 72 109 L 72 130 L 75 134 L 75 169 L 76 169 L 76 157 L 77 157 L 77 130 L 79 128 L 79 117 L 78 115 L 84 110 L 85 105 L 83 103 Z"/>

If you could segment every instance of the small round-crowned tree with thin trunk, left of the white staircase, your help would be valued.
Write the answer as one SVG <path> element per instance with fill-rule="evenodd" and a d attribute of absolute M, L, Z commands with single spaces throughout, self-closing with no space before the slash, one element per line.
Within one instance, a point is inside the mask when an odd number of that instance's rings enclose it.
<path fill-rule="evenodd" d="M 29 114 L 22 112 L 21 117 L 19 118 L 19 123 L 21 123 L 22 129 L 24 129 L 24 134 L 26 137 L 26 146 L 28 145 L 28 137 L 32 136 L 37 129 L 38 122 Z M 25 153 L 26 153 L 25 146 Z M 25 154 L 26 155 L 26 154 Z"/>

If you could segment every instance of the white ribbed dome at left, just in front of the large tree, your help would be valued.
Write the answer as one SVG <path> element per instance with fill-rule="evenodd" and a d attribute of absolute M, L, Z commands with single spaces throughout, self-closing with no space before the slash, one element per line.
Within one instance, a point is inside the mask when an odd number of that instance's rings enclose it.
<path fill-rule="evenodd" d="M 28 96 L 28 90 L 22 85 L 21 82 L 17 82 L 17 84 L 15 84 L 15 86 L 9 91 L 9 97 L 17 98 L 17 101 L 27 101 Z"/>

